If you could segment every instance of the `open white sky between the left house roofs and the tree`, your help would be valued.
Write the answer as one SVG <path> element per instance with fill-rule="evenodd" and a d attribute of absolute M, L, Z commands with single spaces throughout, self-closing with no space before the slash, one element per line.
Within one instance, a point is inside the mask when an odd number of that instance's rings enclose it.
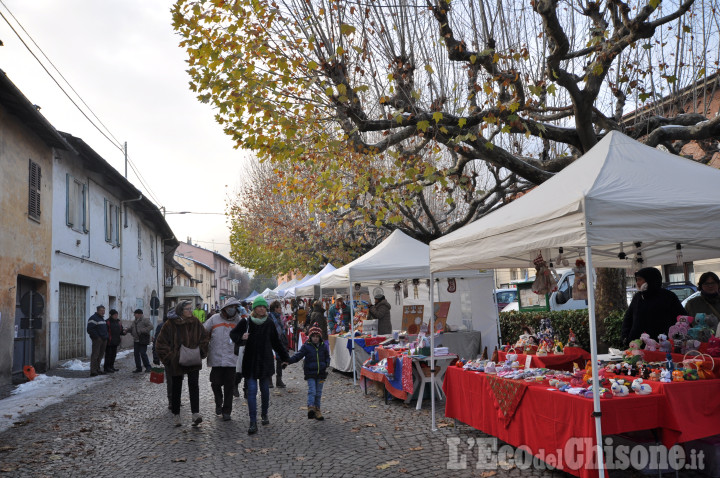
<path fill-rule="evenodd" d="M 160 206 L 176 212 L 225 211 L 226 198 L 237 189 L 248 154 L 233 149 L 212 108 L 198 102 L 188 88 L 185 52 L 172 29 L 172 1 L 2 3 L 113 135 L 128 142 L 129 157 Z M 0 12 L 36 51 L 5 7 L 0 4 Z M 2 18 L 0 40 L 4 43 L 0 69 L 10 80 L 42 108 L 55 128 L 82 138 L 124 173 L 122 152 L 72 105 Z M 128 178 L 146 192 L 130 168 Z M 167 215 L 167 221 L 178 240 L 189 236 L 200 246 L 229 255 L 224 216 Z"/>

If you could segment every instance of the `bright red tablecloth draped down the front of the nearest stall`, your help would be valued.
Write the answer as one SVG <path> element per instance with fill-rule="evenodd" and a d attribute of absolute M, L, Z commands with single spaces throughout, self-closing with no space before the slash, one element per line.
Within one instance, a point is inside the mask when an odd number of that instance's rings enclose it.
<path fill-rule="evenodd" d="M 499 380 L 450 367 L 443 384 L 445 415 L 513 446 L 525 445 L 550 465 L 576 476 L 597 476 L 592 466 L 591 399 L 551 391 L 546 384 L 519 382 L 524 388 L 519 403 L 502 404 L 493 390 L 493 379 Z M 658 428 L 669 447 L 720 433 L 720 401 L 713 398 L 720 393 L 720 380 L 651 385 L 651 395 L 601 400 L 604 435 Z"/>

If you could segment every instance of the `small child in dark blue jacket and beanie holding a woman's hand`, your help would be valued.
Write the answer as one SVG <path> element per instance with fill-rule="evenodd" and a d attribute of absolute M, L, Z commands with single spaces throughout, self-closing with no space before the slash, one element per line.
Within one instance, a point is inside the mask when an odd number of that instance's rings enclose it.
<path fill-rule="evenodd" d="M 317 324 L 310 327 L 310 340 L 305 342 L 300 351 L 290 357 L 288 363 L 296 363 L 301 359 L 303 362 L 303 372 L 305 380 L 308 384 L 308 418 L 316 420 L 324 420 L 320 411 L 320 401 L 322 399 L 322 389 L 327 379 L 327 368 L 330 365 L 330 351 L 322 339 L 322 330 Z"/>

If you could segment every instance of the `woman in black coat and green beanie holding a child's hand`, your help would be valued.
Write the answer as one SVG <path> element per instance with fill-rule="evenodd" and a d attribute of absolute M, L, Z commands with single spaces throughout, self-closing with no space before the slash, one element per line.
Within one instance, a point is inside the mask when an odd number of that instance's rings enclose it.
<path fill-rule="evenodd" d="M 270 381 L 275 375 L 275 357 L 273 351 L 282 362 L 290 357 L 282 346 L 280 337 L 272 319 L 268 315 L 268 303 L 262 296 L 253 300 L 250 320 L 240 323 L 230 332 L 230 339 L 236 344 L 245 341 L 242 374 L 248 387 L 248 414 L 250 427 L 248 434 L 257 433 L 257 391 L 261 394 L 261 415 L 263 425 L 269 425 L 268 411 L 270 408 Z"/>

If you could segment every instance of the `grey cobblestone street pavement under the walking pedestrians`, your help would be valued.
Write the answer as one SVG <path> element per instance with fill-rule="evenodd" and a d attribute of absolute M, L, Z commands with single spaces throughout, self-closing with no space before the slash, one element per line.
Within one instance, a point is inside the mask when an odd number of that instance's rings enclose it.
<path fill-rule="evenodd" d="M 352 377 L 337 372 L 329 374 L 323 392 L 325 421 L 308 420 L 301 364 L 285 370 L 286 389 L 271 389 L 271 423 L 259 425 L 256 435 L 247 435 L 247 406 L 242 398 L 234 401 L 232 421 L 215 416 L 207 368 L 200 375 L 203 423 L 198 428 L 189 425 L 185 388 L 181 412 L 185 423 L 176 428 L 167 409 L 165 384 L 150 383 L 145 373 L 131 373 L 132 360 L 131 356 L 120 360 L 120 372 L 93 378 L 98 381 L 95 387 L 0 433 L 0 476 L 570 476 L 521 470 L 509 463 L 502 463 L 507 469 L 478 470 L 477 455 L 466 443 L 487 435 L 465 425 L 456 429 L 443 418 L 442 403 L 438 431 L 432 432 L 429 400 L 419 411 L 414 403 L 406 406 L 394 400 L 386 405 L 377 394 L 365 395 L 354 387 Z M 62 375 L 89 380 L 88 372 Z M 465 469 L 448 469 L 448 439 L 466 455 Z"/>

